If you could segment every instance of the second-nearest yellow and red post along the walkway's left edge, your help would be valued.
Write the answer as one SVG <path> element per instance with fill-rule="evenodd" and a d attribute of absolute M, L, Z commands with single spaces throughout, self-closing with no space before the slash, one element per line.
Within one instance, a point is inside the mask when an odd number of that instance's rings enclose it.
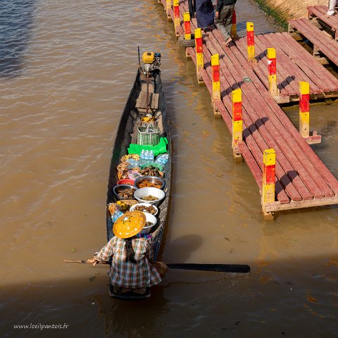
<path fill-rule="evenodd" d="M 232 91 L 232 154 L 236 162 L 242 161 L 239 142 L 243 141 L 242 90 Z"/>

